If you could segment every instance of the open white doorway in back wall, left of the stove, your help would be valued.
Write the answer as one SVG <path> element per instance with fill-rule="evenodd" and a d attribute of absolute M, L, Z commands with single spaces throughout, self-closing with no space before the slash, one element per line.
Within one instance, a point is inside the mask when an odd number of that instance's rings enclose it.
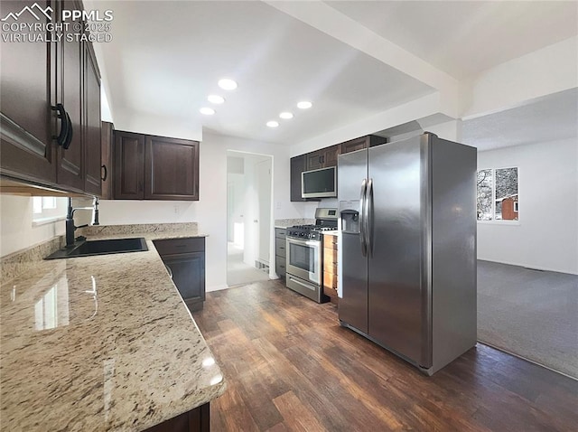
<path fill-rule="evenodd" d="M 273 157 L 227 151 L 227 285 L 269 279 Z"/>

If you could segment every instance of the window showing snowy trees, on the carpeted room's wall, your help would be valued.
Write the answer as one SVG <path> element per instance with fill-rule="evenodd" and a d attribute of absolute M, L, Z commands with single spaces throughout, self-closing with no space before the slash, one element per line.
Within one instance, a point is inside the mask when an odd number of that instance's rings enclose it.
<path fill-rule="evenodd" d="M 517 197 L 517 167 L 478 171 L 478 221 L 518 221 Z"/>

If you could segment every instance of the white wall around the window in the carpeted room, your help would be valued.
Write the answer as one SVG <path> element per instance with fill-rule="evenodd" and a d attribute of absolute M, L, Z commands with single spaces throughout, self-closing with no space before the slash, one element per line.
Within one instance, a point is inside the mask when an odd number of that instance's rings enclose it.
<path fill-rule="evenodd" d="M 519 224 L 478 223 L 478 258 L 578 274 L 578 139 L 478 153 L 518 167 Z"/>

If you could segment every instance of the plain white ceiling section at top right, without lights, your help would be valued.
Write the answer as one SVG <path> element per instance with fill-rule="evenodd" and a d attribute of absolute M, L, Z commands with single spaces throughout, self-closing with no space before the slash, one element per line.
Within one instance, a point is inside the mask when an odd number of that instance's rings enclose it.
<path fill-rule="evenodd" d="M 578 33 L 576 1 L 328 1 L 457 79 Z"/>

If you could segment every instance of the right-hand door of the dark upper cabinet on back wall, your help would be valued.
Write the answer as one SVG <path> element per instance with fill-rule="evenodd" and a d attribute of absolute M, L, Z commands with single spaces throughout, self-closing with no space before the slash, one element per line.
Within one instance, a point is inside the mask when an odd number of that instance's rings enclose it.
<path fill-rule="evenodd" d="M 146 136 L 144 198 L 199 200 L 199 143 Z"/>

